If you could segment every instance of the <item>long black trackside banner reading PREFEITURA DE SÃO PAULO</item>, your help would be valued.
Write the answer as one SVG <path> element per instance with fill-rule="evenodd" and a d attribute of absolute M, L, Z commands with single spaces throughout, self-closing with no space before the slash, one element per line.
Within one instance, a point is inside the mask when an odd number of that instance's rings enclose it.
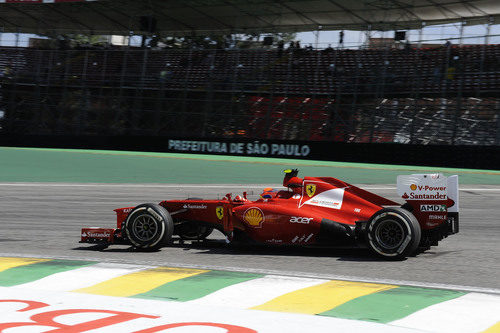
<path fill-rule="evenodd" d="M 491 170 L 500 168 L 497 162 L 500 153 L 499 146 L 347 143 L 240 137 L 189 138 L 176 136 L 20 135 L 6 133 L 0 133 L 0 146 L 152 151 Z M 460 158 L 460 156 L 467 156 L 467 158 Z M 425 186 L 425 184 L 423 185 Z M 411 189 L 406 188 L 406 190 Z M 421 191 L 412 192 L 417 194 L 417 192 Z M 419 195 L 422 194 L 425 193 Z"/>

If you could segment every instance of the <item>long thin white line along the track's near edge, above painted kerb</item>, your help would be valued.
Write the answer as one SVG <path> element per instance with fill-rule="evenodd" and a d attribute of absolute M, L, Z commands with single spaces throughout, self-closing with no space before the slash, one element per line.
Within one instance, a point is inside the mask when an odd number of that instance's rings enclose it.
<path fill-rule="evenodd" d="M 40 254 L 29 254 L 25 253 L 19 255 L 19 253 L 0 253 L 0 257 L 22 257 L 22 258 L 43 258 L 43 259 L 66 259 L 66 260 L 103 260 L 98 258 L 88 258 L 88 257 L 76 257 L 76 256 L 50 256 L 50 255 L 40 255 Z M 129 264 L 126 259 L 106 259 L 108 263 L 123 263 Z M 232 272 L 244 272 L 244 273 L 257 273 L 266 275 L 276 275 L 276 276 L 295 276 L 301 278 L 311 278 L 311 279 L 326 279 L 326 280 L 341 280 L 341 281 L 354 281 L 354 282 L 367 282 L 367 283 L 380 283 L 380 284 L 393 284 L 400 286 L 410 286 L 410 287 L 420 287 L 420 288 L 435 288 L 435 289 L 447 289 L 447 290 L 458 290 L 458 291 L 468 291 L 486 294 L 496 294 L 500 295 L 500 289 L 495 288 L 484 288 L 475 286 L 462 286 L 462 285 L 452 285 L 452 284 L 441 284 L 432 282 L 418 282 L 418 281 L 407 281 L 407 280 L 391 280 L 391 279 L 376 279 L 376 278 L 366 278 L 360 276 L 349 276 L 349 275 L 332 275 L 332 274 L 317 274 L 308 272 L 298 272 L 298 271 L 278 271 L 269 269 L 254 269 L 254 268 L 242 268 L 242 267 L 231 267 L 231 266 L 217 266 L 217 265 L 193 265 L 181 262 L 148 262 L 144 261 L 144 265 L 150 266 L 167 266 L 167 267 L 179 267 L 179 268 L 194 268 L 194 269 L 209 269 L 209 270 L 220 270 L 220 271 L 232 271 Z"/>

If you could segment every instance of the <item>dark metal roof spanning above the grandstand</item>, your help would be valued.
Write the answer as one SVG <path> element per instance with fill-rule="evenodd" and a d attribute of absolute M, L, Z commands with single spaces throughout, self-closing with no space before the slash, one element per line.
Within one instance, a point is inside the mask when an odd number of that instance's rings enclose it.
<path fill-rule="evenodd" d="M 499 0 L 3 0 L 8 32 L 164 35 L 500 23 Z M 150 31 L 148 31 L 150 30 Z"/>

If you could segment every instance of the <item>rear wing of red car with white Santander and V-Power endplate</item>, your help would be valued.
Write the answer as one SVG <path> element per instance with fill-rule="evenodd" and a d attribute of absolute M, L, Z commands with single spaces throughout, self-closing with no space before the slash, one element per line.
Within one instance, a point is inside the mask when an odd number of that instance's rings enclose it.
<path fill-rule="evenodd" d="M 441 173 L 398 176 L 397 190 L 412 207 L 423 229 L 434 229 L 448 222 L 458 232 L 458 176 Z M 456 229 L 456 230 L 455 230 Z"/>

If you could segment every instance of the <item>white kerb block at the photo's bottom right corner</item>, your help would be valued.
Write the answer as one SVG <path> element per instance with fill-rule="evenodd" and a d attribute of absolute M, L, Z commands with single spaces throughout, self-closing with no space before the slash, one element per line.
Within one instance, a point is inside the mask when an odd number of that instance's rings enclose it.
<path fill-rule="evenodd" d="M 433 332 L 481 332 L 500 321 L 500 297 L 471 293 L 389 324 Z"/>

